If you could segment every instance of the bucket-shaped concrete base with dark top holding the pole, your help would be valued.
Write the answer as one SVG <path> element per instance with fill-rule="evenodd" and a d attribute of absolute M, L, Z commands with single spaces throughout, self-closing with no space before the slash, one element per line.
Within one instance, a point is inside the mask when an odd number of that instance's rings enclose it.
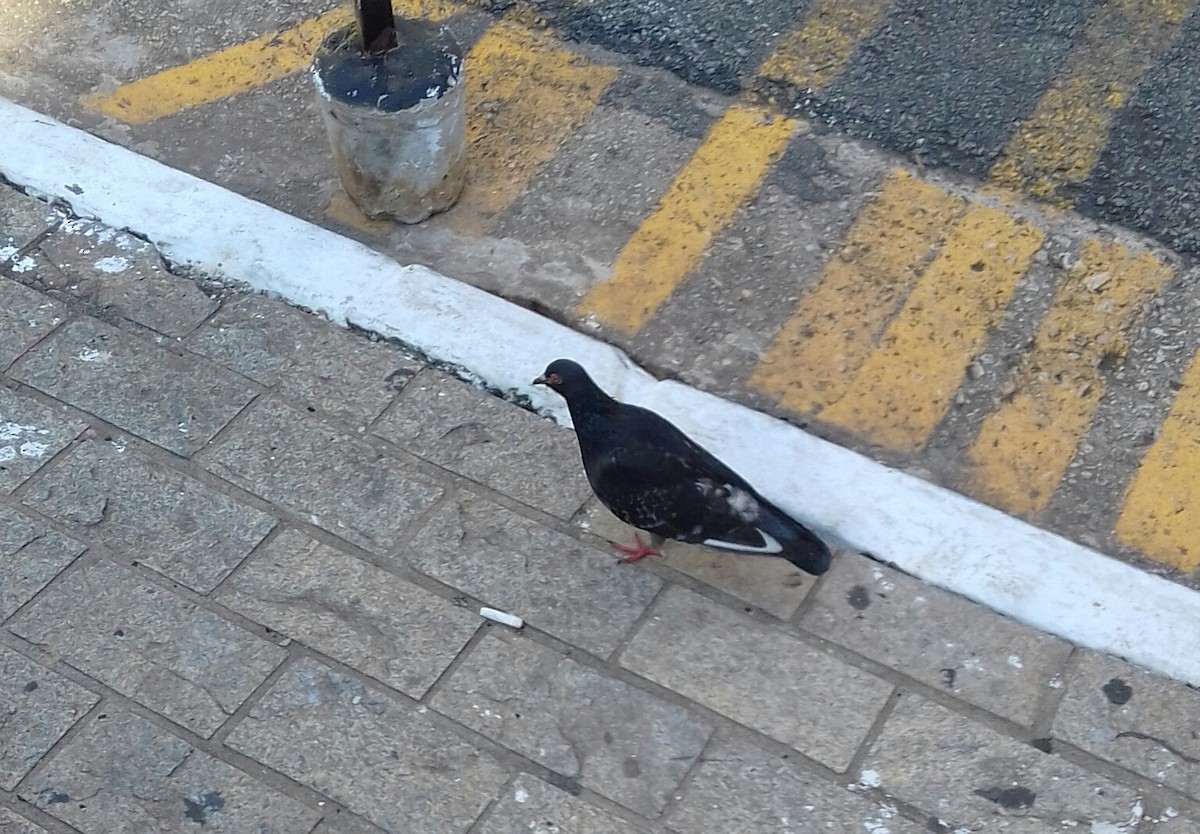
<path fill-rule="evenodd" d="M 396 20 L 400 46 L 361 49 L 356 26 L 320 44 L 317 107 L 342 186 L 365 215 L 419 223 L 454 205 L 467 173 L 462 49 L 424 20 Z"/>

